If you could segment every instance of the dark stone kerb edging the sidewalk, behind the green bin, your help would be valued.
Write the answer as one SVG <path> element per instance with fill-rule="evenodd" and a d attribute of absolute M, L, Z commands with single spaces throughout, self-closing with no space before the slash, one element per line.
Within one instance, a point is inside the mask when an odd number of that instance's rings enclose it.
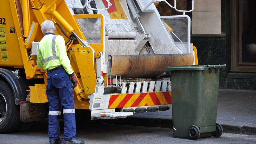
<path fill-rule="evenodd" d="M 98 122 L 120 125 L 153 126 L 172 129 L 172 119 L 169 118 L 127 117 L 126 119 L 100 120 Z M 256 124 L 254 123 L 221 120 L 217 120 L 217 123 L 222 125 L 223 132 L 256 135 Z"/>

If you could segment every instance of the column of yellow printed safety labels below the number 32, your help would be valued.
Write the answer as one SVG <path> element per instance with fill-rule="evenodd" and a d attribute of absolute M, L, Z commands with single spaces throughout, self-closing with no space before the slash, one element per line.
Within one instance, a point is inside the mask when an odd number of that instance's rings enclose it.
<path fill-rule="evenodd" d="M 1 53 L 1 60 L 4 62 L 9 61 L 5 34 L 6 34 L 5 28 L 0 27 L 0 53 Z"/>

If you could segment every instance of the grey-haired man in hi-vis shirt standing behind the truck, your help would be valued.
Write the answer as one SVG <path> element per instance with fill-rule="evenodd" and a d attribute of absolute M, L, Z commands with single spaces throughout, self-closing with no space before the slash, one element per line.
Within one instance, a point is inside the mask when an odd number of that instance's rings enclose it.
<path fill-rule="evenodd" d="M 62 36 L 55 35 L 56 27 L 51 20 L 42 23 L 44 37 L 37 46 L 37 66 L 47 70 L 46 95 L 49 101 L 49 142 L 50 144 L 84 144 L 76 139 L 76 119 L 73 89 L 77 79 L 71 68 Z M 70 81 L 71 77 L 71 81 Z M 72 89 L 73 88 L 73 89 Z M 59 137 L 58 118 L 63 108 L 64 135 Z"/>

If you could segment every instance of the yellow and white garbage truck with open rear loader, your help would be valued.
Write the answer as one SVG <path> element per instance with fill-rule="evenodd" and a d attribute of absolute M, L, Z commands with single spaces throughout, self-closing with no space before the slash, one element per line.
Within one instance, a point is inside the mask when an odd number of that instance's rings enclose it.
<path fill-rule="evenodd" d="M 78 85 L 76 109 L 94 119 L 168 110 L 165 66 L 196 65 L 190 18 L 161 16 L 156 0 L 2 0 L 0 12 L 0 133 L 28 128 L 48 115 L 47 70 L 36 64 L 41 24 L 52 20 L 64 37 Z M 193 5 L 193 0 L 192 5 Z M 87 8 L 89 13 L 82 14 Z M 81 14 L 75 14 L 81 13 Z"/>

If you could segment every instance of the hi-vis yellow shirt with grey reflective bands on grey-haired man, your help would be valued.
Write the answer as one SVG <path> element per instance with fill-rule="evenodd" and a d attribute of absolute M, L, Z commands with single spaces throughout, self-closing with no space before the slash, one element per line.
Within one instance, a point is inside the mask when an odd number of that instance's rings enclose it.
<path fill-rule="evenodd" d="M 64 38 L 53 33 L 46 33 L 39 42 L 36 63 L 39 68 L 46 70 L 62 65 L 69 75 L 74 72 L 70 66 Z"/>

